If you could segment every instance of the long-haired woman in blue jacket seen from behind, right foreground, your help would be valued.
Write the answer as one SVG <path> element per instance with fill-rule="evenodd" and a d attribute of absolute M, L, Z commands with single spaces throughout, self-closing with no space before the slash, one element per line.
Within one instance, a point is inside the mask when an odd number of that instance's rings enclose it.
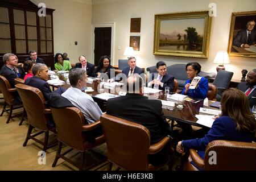
<path fill-rule="evenodd" d="M 222 116 L 218 117 L 204 138 L 182 140 L 178 142 L 177 152 L 184 152 L 188 148 L 198 151 L 204 159 L 204 151 L 213 140 L 232 140 L 238 142 L 252 142 L 256 122 L 250 112 L 249 102 L 245 94 L 236 88 L 230 88 L 222 94 Z"/>

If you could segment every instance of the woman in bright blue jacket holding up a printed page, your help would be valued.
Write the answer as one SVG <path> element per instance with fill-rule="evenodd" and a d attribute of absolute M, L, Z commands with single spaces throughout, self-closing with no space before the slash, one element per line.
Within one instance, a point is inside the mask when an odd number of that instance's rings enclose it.
<path fill-rule="evenodd" d="M 182 91 L 182 94 L 191 96 L 193 98 L 207 98 L 208 92 L 208 80 L 204 77 L 201 78 L 199 84 L 196 86 L 195 89 L 189 89 L 191 81 L 194 77 L 198 75 L 201 71 L 201 65 L 197 62 L 188 63 L 186 65 L 188 80 L 185 82 L 185 87 Z"/>

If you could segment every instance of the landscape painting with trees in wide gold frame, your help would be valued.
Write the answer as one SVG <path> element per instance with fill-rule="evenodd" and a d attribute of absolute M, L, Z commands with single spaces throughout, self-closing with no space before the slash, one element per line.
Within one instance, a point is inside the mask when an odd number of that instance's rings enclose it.
<path fill-rule="evenodd" d="M 208 58 L 209 11 L 156 14 L 154 55 Z"/>

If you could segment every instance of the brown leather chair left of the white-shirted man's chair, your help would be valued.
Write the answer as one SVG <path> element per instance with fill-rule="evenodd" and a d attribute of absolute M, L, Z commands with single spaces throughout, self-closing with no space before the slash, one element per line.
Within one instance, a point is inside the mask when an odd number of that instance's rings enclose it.
<path fill-rule="evenodd" d="M 55 127 L 47 126 L 47 121 L 51 110 L 44 106 L 44 96 L 42 92 L 33 86 L 28 86 L 24 84 L 16 84 L 15 88 L 18 90 L 19 96 L 22 99 L 24 108 L 27 111 L 28 120 L 28 131 L 27 137 L 23 143 L 23 147 L 27 145 L 29 139 L 35 140 L 36 142 L 43 145 L 43 151 L 48 148 L 56 146 L 56 143 L 48 146 L 49 131 L 56 133 Z M 32 129 L 40 129 L 38 133 L 31 135 Z M 35 138 L 36 136 L 44 133 L 44 142 Z"/>

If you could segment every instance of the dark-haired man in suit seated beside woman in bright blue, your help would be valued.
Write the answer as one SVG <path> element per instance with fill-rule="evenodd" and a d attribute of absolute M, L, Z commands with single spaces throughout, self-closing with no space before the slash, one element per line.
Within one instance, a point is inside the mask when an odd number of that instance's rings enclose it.
<path fill-rule="evenodd" d="M 165 90 L 166 86 L 169 86 L 170 92 L 173 92 L 174 76 L 166 72 L 166 63 L 164 63 L 164 61 L 158 61 L 158 63 L 156 63 L 156 71 L 158 71 L 158 74 L 151 74 L 152 81 L 148 82 L 148 86 L 152 85 L 152 88 L 159 90 Z"/>

